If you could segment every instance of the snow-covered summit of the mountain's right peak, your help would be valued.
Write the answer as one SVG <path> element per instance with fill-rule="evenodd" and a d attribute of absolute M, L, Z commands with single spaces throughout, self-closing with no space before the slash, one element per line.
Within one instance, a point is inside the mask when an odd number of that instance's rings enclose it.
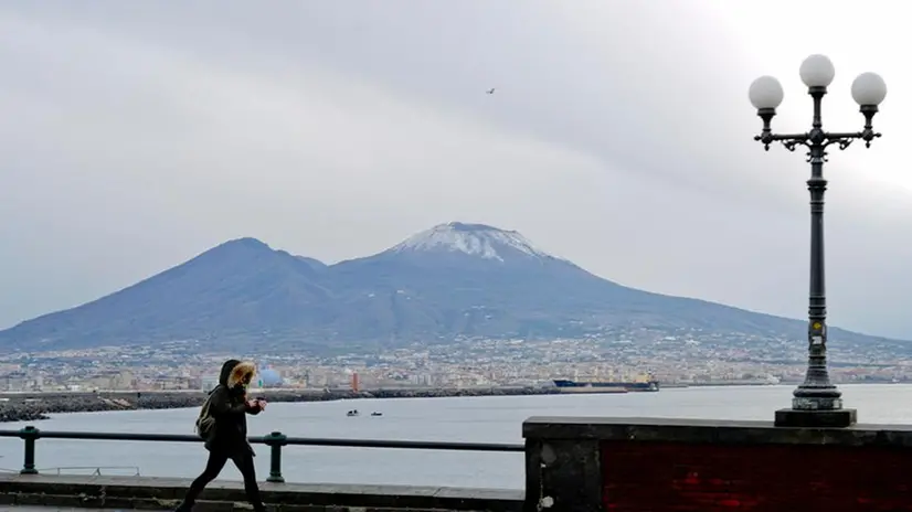
<path fill-rule="evenodd" d="M 534 258 L 558 259 L 535 247 L 516 231 L 462 222 L 438 224 L 410 236 L 390 250 L 395 253 L 445 250 L 499 262 L 503 262 L 510 253 L 520 253 Z"/>

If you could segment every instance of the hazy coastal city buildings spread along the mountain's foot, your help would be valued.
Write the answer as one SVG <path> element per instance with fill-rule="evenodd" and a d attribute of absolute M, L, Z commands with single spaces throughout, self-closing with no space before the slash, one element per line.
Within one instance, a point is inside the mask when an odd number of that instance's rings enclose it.
<path fill-rule="evenodd" d="M 804 377 L 798 340 L 701 335 L 699 331 L 621 333 L 612 340 L 471 339 L 402 349 L 324 354 L 201 354 L 193 341 L 8 354 L 0 391 L 209 390 L 227 358 L 246 356 L 287 388 L 538 386 L 552 378 L 637 380 L 664 384 L 776 384 Z M 853 352 L 831 348 L 837 382 L 906 382 L 912 354 L 884 343 Z M 356 377 L 357 375 L 357 377 Z"/>

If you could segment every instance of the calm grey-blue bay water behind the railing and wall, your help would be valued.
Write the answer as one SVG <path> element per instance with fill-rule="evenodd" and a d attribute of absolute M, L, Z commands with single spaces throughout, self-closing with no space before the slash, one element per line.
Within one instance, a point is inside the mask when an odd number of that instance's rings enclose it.
<path fill-rule="evenodd" d="M 530 416 L 679 417 L 771 420 L 786 407 L 794 386 L 690 387 L 659 393 L 539 395 L 453 398 L 360 399 L 269 404 L 248 417 L 253 436 L 279 430 L 295 437 L 350 439 L 522 442 L 522 422 Z M 859 409 L 868 424 L 912 422 L 912 385 L 841 386 L 847 407 Z M 359 409 L 358 417 L 346 412 Z M 383 416 L 372 417 L 372 412 Z M 129 410 L 54 415 L 28 423 L 45 430 L 192 434 L 199 409 Z M 19 429 L 26 423 L 0 425 Z M 269 452 L 262 445 L 256 469 L 268 474 Z M 0 468 L 18 471 L 22 441 L 0 438 Z M 36 463 L 42 472 L 195 477 L 205 465 L 202 445 L 40 439 Z M 485 487 L 522 489 L 522 454 L 454 452 L 336 447 L 286 447 L 287 481 Z M 60 468 L 60 469 L 59 469 Z M 234 468 L 221 479 L 238 480 Z"/>

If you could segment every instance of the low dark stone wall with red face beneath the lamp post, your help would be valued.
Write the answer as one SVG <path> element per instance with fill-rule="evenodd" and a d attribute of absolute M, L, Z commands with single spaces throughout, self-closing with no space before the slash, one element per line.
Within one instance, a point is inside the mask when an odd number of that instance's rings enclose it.
<path fill-rule="evenodd" d="M 912 510 L 912 429 L 530 418 L 527 511 Z"/>

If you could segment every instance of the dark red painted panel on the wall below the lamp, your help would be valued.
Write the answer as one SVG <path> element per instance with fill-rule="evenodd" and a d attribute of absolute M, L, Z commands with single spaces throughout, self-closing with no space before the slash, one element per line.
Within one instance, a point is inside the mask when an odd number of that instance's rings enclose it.
<path fill-rule="evenodd" d="M 912 449 L 602 444 L 611 512 L 912 512 Z"/>

